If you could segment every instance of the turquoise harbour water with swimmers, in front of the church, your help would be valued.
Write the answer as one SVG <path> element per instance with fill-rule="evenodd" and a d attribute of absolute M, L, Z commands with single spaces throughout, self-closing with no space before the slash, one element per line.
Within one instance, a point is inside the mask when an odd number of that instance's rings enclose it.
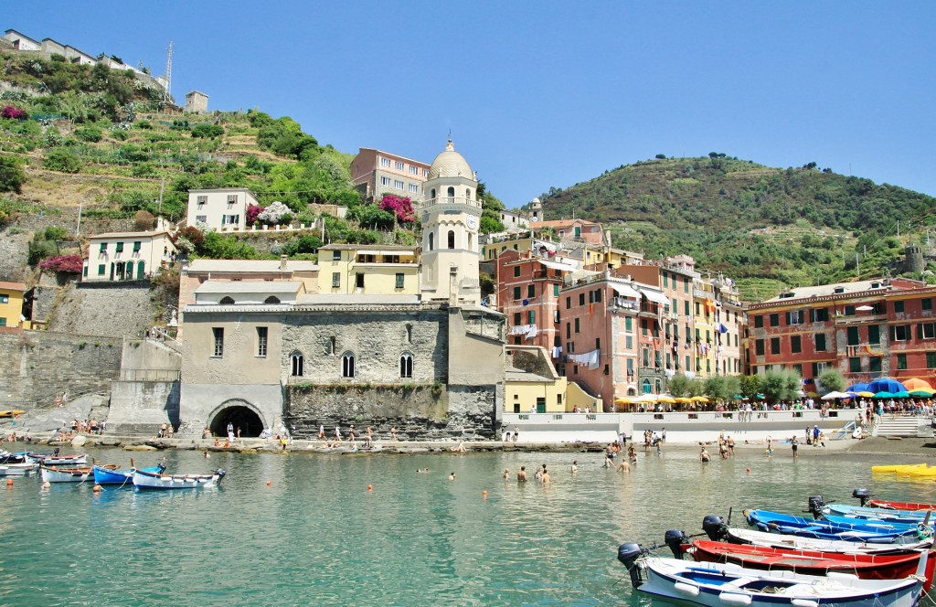
<path fill-rule="evenodd" d="M 228 475 L 201 491 L 95 496 L 91 483 L 43 490 L 36 478 L 0 488 L 0 605 L 648 605 L 616 560 L 625 540 L 695 533 L 729 507 L 856 503 L 857 486 L 936 501 L 932 482 L 872 478 L 868 458 L 800 452 L 703 466 L 674 448 L 641 453 L 629 475 L 595 453 L 138 452 L 139 466 L 165 456 L 170 471 Z M 543 463 L 551 484 L 513 480 Z"/>

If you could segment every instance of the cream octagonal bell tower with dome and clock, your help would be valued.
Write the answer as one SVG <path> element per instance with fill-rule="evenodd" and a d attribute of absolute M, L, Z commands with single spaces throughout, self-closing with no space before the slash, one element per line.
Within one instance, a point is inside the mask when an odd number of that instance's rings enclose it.
<path fill-rule="evenodd" d="M 432 161 L 423 192 L 425 200 L 419 206 L 423 299 L 480 305 L 477 230 L 481 202 L 476 198 L 475 172 L 455 151 L 450 139 L 446 149 Z"/>

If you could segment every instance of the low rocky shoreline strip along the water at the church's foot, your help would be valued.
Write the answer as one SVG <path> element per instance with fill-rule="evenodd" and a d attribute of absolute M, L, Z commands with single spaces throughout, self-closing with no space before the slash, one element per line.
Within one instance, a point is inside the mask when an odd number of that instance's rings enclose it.
<path fill-rule="evenodd" d="M 51 446 L 71 447 L 71 443 L 55 440 L 33 441 L 33 444 L 48 444 Z M 215 444 L 213 438 L 141 438 L 141 437 L 85 437 L 81 449 L 93 447 L 114 447 L 124 451 L 203 451 L 203 452 L 234 452 L 234 453 L 323 453 L 323 454 L 377 454 L 377 453 L 461 453 L 463 452 L 604 452 L 606 445 L 593 442 L 578 443 L 515 443 L 494 440 L 472 441 L 415 441 L 415 440 L 387 440 L 373 441 L 371 448 L 365 448 L 363 441 L 357 441 L 355 446 L 344 440 L 337 446 L 329 447 L 325 440 L 296 440 L 286 445 L 285 450 L 276 439 L 243 438 L 235 440 L 233 444 L 225 446 L 225 441 Z"/>

